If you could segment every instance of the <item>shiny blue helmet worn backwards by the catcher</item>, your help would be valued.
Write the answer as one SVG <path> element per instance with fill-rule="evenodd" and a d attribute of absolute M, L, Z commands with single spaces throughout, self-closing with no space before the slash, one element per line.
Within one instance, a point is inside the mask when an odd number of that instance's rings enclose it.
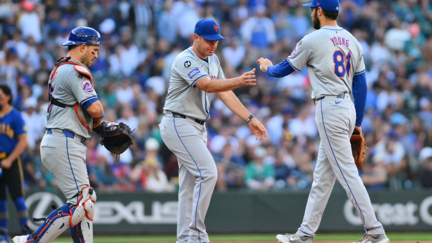
<path fill-rule="evenodd" d="M 71 45 L 101 45 L 101 35 L 95 29 L 89 27 L 78 27 L 70 31 L 69 40 L 61 44 L 62 46 Z"/>

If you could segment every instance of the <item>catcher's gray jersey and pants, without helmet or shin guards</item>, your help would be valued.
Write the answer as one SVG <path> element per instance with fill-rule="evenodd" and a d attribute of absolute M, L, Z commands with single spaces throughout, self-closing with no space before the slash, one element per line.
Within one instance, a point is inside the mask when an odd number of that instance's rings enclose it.
<path fill-rule="evenodd" d="M 49 95 L 70 107 L 63 108 L 52 101 L 49 104 L 46 134 L 41 141 L 41 158 L 67 202 L 76 205 L 77 193 L 90 185 L 85 163 L 87 147 L 82 142 L 90 138 L 89 128 L 93 122 L 86 108 L 98 97 L 92 86 L 90 71 L 81 62 L 69 62 L 54 69 L 48 81 Z M 76 105 L 77 102 L 80 105 Z"/>

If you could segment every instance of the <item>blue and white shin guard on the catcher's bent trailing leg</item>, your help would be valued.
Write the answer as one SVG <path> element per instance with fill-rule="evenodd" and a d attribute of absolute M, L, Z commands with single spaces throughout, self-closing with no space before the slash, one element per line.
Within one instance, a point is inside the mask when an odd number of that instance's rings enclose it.
<path fill-rule="evenodd" d="M 64 230 L 69 228 L 70 217 L 74 213 L 74 209 L 69 205 L 64 204 L 59 208 L 55 208 L 46 218 L 34 218 L 34 221 L 44 221 L 36 231 L 31 233 L 26 242 L 33 243 L 49 243 Z M 25 225 L 26 227 L 26 225 Z M 28 227 L 27 227 L 28 228 Z M 30 231 L 31 232 L 31 231 Z"/>

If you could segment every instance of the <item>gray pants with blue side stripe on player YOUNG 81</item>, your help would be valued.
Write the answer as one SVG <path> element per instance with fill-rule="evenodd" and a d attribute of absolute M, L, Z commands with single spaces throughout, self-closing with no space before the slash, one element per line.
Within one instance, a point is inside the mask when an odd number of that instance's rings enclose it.
<path fill-rule="evenodd" d="M 321 142 L 314 181 L 306 204 L 300 236 L 315 236 L 337 179 L 357 210 L 368 234 L 382 234 L 384 228 L 377 220 L 371 199 L 358 176 L 352 157 L 349 137 L 354 131 L 355 108 L 348 94 L 344 98 L 326 96 L 316 101 L 315 122 Z"/>

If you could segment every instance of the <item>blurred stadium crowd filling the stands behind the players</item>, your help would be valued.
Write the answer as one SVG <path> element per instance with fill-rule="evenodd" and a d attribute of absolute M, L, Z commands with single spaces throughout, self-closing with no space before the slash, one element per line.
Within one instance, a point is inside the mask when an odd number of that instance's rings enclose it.
<path fill-rule="evenodd" d="M 0 84 L 11 87 L 27 124 L 22 156 L 26 190 L 55 190 L 42 166 L 47 80 L 71 29 L 89 26 L 102 36 L 91 66 L 105 120 L 124 122 L 135 143 L 115 159 L 94 135 L 87 167 L 98 191 L 175 191 L 176 157 L 158 123 L 171 63 L 192 43 L 201 18 L 219 21 L 226 40 L 219 56 L 227 78 L 277 63 L 314 31 L 297 0 L 0 0 Z M 339 26 L 361 42 L 368 98 L 363 132 L 368 147 L 365 185 L 375 190 L 432 188 L 432 3 L 429 0 L 340 0 Z M 259 68 L 258 68 L 259 69 Z M 311 186 L 319 136 L 306 68 L 283 78 L 257 71 L 257 85 L 234 90 L 263 121 L 268 138 L 254 139 L 247 124 L 213 96 L 206 122 L 217 158 L 218 190 L 297 190 Z"/>

